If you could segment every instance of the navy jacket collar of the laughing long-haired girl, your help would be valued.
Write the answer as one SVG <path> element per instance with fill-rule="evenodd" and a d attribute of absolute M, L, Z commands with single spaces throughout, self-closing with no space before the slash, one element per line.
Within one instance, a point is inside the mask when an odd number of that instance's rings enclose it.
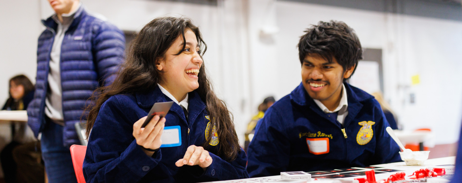
<path fill-rule="evenodd" d="M 172 101 L 170 97 L 167 97 L 160 90 L 159 86 L 155 86 L 154 90 L 149 90 L 146 92 L 137 92 L 135 93 L 136 101 L 141 108 L 150 109 L 154 103 L 158 102 L 170 102 Z M 173 103 L 170 108 L 171 112 L 176 113 L 184 122 L 191 123 L 202 113 L 206 108 L 205 103 L 201 100 L 201 97 L 196 91 L 191 91 L 188 93 L 189 104 L 188 104 L 188 120 L 184 116 L 183 109 L 177 104 Z M 191 125 L 189 124 L 189 126 Z"/>

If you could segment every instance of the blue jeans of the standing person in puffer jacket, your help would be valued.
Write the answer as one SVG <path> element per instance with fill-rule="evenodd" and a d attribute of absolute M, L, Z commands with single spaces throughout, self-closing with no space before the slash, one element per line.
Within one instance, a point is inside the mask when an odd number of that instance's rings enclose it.
<path fill-rule="evenodd" d="M 49 183 L 77 183 L 71 151 L 63 146 L 63 128 L 47 120 L 42 132 L 42 157 Z"/>

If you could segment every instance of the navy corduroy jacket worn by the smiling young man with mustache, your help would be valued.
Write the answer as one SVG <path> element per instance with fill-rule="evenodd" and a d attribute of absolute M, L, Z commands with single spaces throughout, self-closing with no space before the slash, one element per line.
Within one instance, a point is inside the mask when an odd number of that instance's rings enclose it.
<path fill-rule="evenodd" d="M 343 126 L 322 112 L 301 83 L 274 103 L 258 122 L 249 145 L 250 177 L 401 161 L 398 145 L 385 131 L 389 124 L 380 104 L 365 91 L 344 85 L 348 115 Z M 328 142 L 327 149 L 316 147 L 319 140 Z"/>

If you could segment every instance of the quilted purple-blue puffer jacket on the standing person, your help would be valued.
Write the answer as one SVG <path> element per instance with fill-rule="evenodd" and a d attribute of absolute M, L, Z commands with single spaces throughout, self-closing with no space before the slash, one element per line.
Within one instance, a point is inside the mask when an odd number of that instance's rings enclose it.
<path fill-rule="evenodd" d="M 37 137 L 45 121 L 45 97 L 51 47 L 58 24 L 42 20 L 46 30 L 38 38 L 37 77 L 34 99 L 27 109 L 27 123 Z M 98 86 L 109 85 L 123 61 L 125 37 L 120 29 L 80 7 L 61 45 L 61 88 L 64 114 L 64 146 L 79 144 L 74 124 L 80 122 L 87 99 Z"/>

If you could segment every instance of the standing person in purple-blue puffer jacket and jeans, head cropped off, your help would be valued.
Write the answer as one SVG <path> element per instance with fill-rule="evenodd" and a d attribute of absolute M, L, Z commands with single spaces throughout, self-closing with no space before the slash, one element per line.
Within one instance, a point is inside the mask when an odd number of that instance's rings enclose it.
<path fill-rule="evenodd" d="M 77 182 L 69 147 L 79 144 L 74 124 L 98 86 L 111 83 L 122 63 L 120 29 L 85 10 L 79 0 L 49 0 L 55 14 L 42 20 L 38 38 L 36 95 L 27 109 L 49 183 Z"/>

